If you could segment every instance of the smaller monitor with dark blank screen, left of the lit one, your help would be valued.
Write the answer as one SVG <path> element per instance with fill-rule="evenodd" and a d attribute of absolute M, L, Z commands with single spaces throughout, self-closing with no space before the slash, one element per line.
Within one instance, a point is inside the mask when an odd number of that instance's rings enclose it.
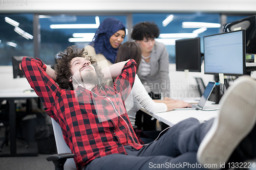
<path fill-rule="evenodd" d="M 200 37 L 176 40 L 176 71 L 201 72 Z"/>

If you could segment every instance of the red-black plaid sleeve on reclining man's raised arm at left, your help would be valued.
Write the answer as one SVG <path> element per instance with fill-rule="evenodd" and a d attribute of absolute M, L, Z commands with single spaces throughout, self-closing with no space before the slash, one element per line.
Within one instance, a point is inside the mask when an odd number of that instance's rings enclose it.
<path fill-rule="evenodd" d="M 22 59 L 21 67 L 24 76 L 41 99 L 47 111 L 52 107 L 52 105 L 54 105 L 56 98 L 60 96 L 61 89 L 46 73 L 47 66 L 40 59 L 24 57 Z"/>

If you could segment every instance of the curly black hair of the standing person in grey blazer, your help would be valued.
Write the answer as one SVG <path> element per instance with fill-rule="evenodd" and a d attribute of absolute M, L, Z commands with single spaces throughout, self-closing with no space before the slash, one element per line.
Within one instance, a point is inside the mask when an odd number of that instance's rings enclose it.
<path fill-rule="evenodd" d="M 157 25 L 154 22 L 140 22 L 137 23 L 133 27 L 132 31 L 132 39 L 134 40 L 143 40 L 144 37 L 146 39 L 151 39 L 151 38 L 158 38 L 160 34 L 160 30 L 157 27 Z"/>

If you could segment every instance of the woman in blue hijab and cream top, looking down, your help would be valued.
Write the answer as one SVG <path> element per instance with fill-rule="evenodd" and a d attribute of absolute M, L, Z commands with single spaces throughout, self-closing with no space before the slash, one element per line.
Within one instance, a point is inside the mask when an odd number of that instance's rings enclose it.
<path fill-rule="evenodd" d="M 97 60 L 101 68 L 105 68 L 115 63 L 118 47 L 124 37 L 123 23 L 114 17 L 106 18 L 100 23 L 93 41 L 84 48 Z"/>

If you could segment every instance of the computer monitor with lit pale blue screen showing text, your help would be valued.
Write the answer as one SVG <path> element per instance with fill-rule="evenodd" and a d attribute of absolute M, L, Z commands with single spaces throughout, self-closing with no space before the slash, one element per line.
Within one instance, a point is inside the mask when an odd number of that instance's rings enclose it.
<path fill-rule="evenodd" d="M 204 37 L 204 74 L 245 74 L 245 30 Z"/>

